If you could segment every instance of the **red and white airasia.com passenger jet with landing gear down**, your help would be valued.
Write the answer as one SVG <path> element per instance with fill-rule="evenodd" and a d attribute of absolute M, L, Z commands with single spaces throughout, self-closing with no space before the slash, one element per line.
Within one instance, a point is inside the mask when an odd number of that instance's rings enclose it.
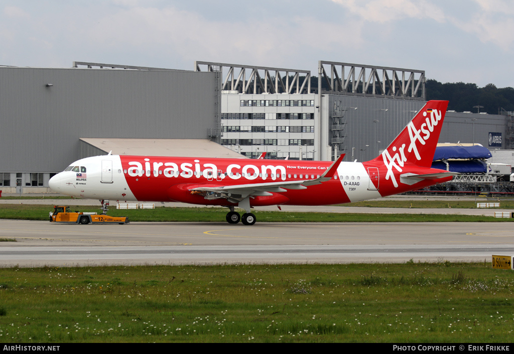
<path fill-rule="evenodd" d="M 376 199 L 450 181 L 431 168 L 448 101 L 429 101 L 391 145 L 368 162 L 103 155 L 50 179 L 56 192 L 117 201 L 221 205 L 227 221 L 255 223 L 252 207 L 329 205 Z M 235 207 L 246 211 L 241 217 Z"/>

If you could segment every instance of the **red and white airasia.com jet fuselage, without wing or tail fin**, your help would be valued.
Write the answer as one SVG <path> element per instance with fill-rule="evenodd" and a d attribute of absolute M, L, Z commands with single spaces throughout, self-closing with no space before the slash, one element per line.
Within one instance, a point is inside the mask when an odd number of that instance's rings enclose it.
<path fill-rule="evenodd" d="M 227 199 L 206 199 L 192 189 L 314 180 L 331 164 L 326 161 L 104 155 L 76 161 L 53 176 L 49 184 L 59 193 L 90 199 L 230 206 L 236 204 Z M 406 164 L 400 172 L 411 170 L 416 174 L 440 171 Z M 385 197 L 434 184 L 426 180 L 415 184 L 393 184 L 390 177 L 387 167 L 376 160 L 342 162 L 329 181 L 305 189 L 253 196 L 250 205 L 341 204 Z M 438 183 L 448 180 L 451 177 L 439 179 Z"/>

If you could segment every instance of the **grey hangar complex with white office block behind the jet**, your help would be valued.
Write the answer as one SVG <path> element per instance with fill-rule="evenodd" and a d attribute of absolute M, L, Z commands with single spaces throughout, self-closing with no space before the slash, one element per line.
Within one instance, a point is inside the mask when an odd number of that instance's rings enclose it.
<path fill-rule="evenodd" d="M 53 174 L 109 152 L 371 160 L 426 103 L 425 81 L 423 70 L 328 61 L 317 78 L 201 61 L 191 71 L 0 65 L 0 190 L 50 192 Z M 514 166 L 514 112 L 502 113 L 449 111 L 439 142 L 478 143 Z"/>

